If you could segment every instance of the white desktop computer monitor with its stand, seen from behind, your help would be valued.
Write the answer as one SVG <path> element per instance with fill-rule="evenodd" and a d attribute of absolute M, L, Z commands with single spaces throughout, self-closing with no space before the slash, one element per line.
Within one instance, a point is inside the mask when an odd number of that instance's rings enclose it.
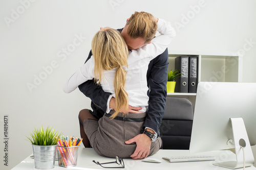
<path fill-rule="evenodd" d="M 244 158 L 245 166 L 254 164 L 255 144 L 256 83 L 198 83 L 190 153 L 234 148 L 237 160 L 215 165 L 239 168 Z"/>

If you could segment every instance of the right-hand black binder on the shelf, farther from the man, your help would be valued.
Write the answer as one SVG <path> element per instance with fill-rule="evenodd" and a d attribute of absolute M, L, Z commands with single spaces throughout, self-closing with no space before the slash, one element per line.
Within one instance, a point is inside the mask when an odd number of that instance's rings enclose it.
<path fill-rule="evenodd" d="M 198 57 L 189 57 L 189 79 L 188 92 L 197 92 L 198 83 Z"/>

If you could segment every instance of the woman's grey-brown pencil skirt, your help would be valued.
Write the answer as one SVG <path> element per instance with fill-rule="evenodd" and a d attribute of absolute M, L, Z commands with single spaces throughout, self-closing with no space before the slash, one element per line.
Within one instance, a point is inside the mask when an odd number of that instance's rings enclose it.
<path fill-rule="evenodd" d="M 125 144 L 125 141 L 141 134 L 146 116 L 144 113 L 118 113 L 115 119 L 104 114 L 99 121 L 87 119 L 83 122 L 84 132 L 89 138 L 92 148 L 101 156 L 115 158 L 130 158 L 136 149 L 136 143 Z M 157 138 L 151 143 L 150 155 L 155 154 L 162 145 L 162 139 Z"/>

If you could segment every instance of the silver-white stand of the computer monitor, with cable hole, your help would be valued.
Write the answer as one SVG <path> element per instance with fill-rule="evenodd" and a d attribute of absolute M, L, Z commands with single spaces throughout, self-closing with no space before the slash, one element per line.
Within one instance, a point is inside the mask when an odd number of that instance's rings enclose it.
<path fill-rule="evenodd" d="M 251 145 L 248 139 L 248 135 L 245 129 L 244 120 L 242 117 L 233 117 L 230 118 L 230 120 L 233 131 L 233 146 L 237 157 L 237 161 L 219 162 L 214 163 L 214 165 L 236 169 L 244 167 L 245 159 L 245 167 L 252 166 L 254 164 L 254 158 L 251 150 Z M 228 142 L 230 142 L 230 140 L 232 139 L 229 139 Z M 244 153 L 243 149 L 240 146 L 244 148 Z"/>

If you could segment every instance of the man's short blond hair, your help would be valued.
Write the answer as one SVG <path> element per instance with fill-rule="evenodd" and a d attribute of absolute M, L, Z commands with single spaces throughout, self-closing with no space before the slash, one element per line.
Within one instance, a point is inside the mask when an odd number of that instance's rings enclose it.
<path fill-rule="evenodd" d="M 135 12 L 126 22 L 127 34 L 132 38 L 141 37 L 145 44 L 150 42 L 156 35 L 157 22 L 154 16 L 147 12 Z"/>

